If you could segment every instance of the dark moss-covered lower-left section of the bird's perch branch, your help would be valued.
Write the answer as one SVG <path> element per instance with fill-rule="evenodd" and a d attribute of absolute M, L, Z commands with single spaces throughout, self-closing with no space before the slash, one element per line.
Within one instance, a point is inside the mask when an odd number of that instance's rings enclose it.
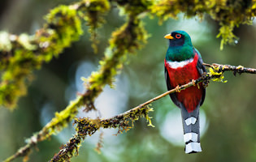
<path fill-rule="evenodd" d="M 63 145 L 62 149 L 50 161 L 70 161 L 73 156 L 78 155 L 81 143 L 85 138 L 88 135 L 93 135 L 100 128 L 117 128 L 117 134 L 121 134 L 130 130 L 134 126 L 134 122 L 141 117 L 145 117 L 149 122 L 148 126 L 153 126 L 149 116 L 150 111 L 153 111 L 153 109 L 149 105 L 145 105 L 140 109 L 131 109 L 126 113 L 108 119 L 75 118 L 76 134 L 72 139 L 69 139 L 68 143 Z"/>

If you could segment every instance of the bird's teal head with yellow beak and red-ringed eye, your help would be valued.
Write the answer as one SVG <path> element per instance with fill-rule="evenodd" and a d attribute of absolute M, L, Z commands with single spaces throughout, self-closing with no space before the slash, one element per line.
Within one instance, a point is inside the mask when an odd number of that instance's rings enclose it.
<path fill-rule="evenodd" d="M 184 31 L 174 31 L 171 32 L 171 34 L 167 34 L 164 36 L 164 38 L 170 40 L 170 47 L 178 47 L 178 46 L 186 46 L 186 45 L 191 45 L 191 39 L 190 36 L 187 32 Z"/>

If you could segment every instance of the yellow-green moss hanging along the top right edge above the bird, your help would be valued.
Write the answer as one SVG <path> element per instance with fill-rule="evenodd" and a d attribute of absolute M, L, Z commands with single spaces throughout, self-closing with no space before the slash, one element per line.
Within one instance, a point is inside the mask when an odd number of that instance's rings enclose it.
<path fill-rule="evenodd" d="M 162 21 L 173 18 L 181 12 L 185 17 L 210 15 L 212 19 L 219 22 L 219 34 L 222 37 L 220 49 L 223 45 L 233 44 L 237 40 L 232 31 L 241 23 L 251 24 L 256 16 L 256 0 L 163 0 L 155 1 L 151 7 L 151 12 L 157 15 Z"/>

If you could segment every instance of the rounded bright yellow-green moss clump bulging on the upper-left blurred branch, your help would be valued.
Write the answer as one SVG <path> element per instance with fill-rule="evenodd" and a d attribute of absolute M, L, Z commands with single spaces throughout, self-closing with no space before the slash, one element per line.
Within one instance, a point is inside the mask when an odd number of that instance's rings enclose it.
<path fill-rule="evenodd" d="M 48 61 L 49 58 L 58 56 L 73 41 L 78 40 L 83 31 L 77 11 L 70 6 L 54 8 L 46 15 L 46 22 L 45 28 L 39 33 L 37 44 L 41 45 L 41 52 L 44 53 L 41 59 Z M 51 44 L 47 46 L 47 42 Z"/>

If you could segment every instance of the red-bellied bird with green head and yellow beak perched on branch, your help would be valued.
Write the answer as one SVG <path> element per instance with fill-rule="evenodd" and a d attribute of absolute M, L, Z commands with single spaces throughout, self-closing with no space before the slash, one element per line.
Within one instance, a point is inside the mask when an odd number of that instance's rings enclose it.
<path fill-rule="evenodd" d="M 178 91 L 178 87 L 185 83 L 193 82 L 206 72 L 201 54 L 192 45 L 187 32 L 174 31 L 164 36 L 169 40 L 166 57 L 164 59 L 165 79 L 167 89 L 176 88 L 170 94 L 171 100 L 181 111 L 184 131 L 184 151 L 187 154 L 202 151 L 199 130 L 199 108 L 202 106 L 206 89 L 202 83 Z"/>

